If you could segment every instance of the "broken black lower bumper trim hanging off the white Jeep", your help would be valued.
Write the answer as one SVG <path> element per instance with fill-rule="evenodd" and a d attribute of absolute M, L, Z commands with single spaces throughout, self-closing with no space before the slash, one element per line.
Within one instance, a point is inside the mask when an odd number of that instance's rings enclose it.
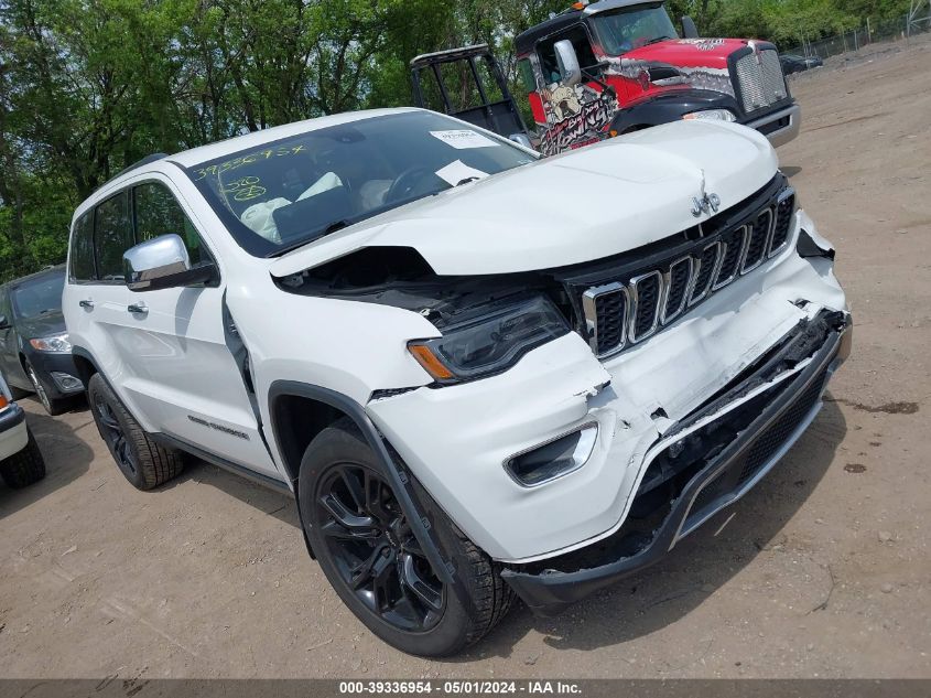
<path fill-rule="evenodd" d="M 502 578 L 534 613 L 555 615 L 594 591 L 659 561 L 679 540 L 739 500 L 779 462 L 821 410 L 822 394 L 832 374 L 849 355 L 851 344 L 852 325 L 847 321 L 843 331 L 829 334 L 803 369 L 773 389 L 775 395 L 766 397 L 749 427 L 688 481 L 648 540 L 642 533 L 621 528 L 611 538 L 587 548 L 506 569 Z M 760 396 L 764 397 L 765 394 Z M 717 412 L 706 426 L 713 428 L 733 409 Z M 632 554 L 624 552 L 631 547 Z M 573 571 L 561 571 L 561 567 Z"/>

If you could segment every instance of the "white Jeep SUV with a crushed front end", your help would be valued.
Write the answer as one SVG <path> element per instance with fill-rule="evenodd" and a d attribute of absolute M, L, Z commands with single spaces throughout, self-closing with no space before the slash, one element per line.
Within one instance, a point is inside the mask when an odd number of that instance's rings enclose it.
<path fill-rule="evenodd" d="M 127 479 L 293 492 L 407 652 L 556 613 L 755 485 L 849 350 L 766 138 L 681 122 L 540 160 L 430 111 L 154 157 L 75 213 L 74 356 Z"/>

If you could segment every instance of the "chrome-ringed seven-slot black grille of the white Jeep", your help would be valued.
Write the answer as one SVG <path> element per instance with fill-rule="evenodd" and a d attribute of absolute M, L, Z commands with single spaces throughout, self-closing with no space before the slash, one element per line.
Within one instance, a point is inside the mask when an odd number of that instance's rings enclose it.
<path fill-rule="evenodd" d="M 737 224 L 715 229 L 708 221 L 702 237 L 665 260 L 582 291 L 582 311 L 592 350 L 599 358 L 642 342 L 749 273 L 789 243 L 795 197 L 783 189 L 755 204 Z"/>

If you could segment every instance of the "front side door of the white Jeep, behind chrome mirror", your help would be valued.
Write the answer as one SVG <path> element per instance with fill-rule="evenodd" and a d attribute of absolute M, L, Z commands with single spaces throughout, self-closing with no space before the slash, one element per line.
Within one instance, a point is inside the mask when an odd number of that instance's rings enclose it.
<path fill-rule="evenodd" d="M 89 311 L 117 357 L 115 389 L 134 414 L 144 416 L 150 429 L 280 479 L 234 357 L 238 342 L 225 319 L 224 280 L 144 292 L 125 286 L 122 254 L 132 243 L 180 235 L 196 265 L 212 259 L 204 236 L 161 175 L 148 175 L 121 195 L 127 212 L 121 225 L 128 232 L 108 234 L 107 226 L 117 218 L 101 208 L 111 200 L 98 206 L 96 218 L 104 225 L 95 226 L 95 241 L 102 245 L 97 250 L 98 276 L 101 281 L 118 276 L 119 283 L 94 288 Z M 118 270 L 111 262 L 117 259 Z"/>

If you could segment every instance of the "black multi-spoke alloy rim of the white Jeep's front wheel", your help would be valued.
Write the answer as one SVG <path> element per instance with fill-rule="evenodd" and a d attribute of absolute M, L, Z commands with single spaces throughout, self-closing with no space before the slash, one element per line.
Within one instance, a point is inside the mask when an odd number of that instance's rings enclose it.
<path fill-rule="evenodd" d="M 315 524 L 340 580 L 367 609 L 408 633 L 440 622 L 445 587 L 379 473 L 335 463 L 321 477 L 314 504 Z"/>

